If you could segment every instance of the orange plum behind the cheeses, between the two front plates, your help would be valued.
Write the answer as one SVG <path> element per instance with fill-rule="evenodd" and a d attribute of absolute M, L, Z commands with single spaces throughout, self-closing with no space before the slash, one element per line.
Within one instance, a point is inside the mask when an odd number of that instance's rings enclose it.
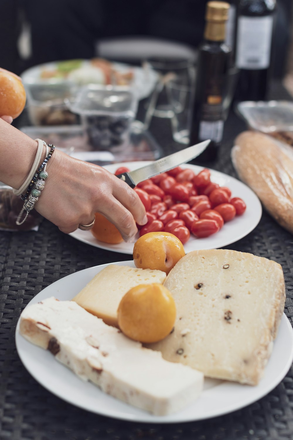
<path fill-rule="evenodd" d="M 141 269 L 157 269 L 168 275 L 184 255 L 183 244 L 170 232 L 148 232 L 134 243 L 134 264 Z"/>

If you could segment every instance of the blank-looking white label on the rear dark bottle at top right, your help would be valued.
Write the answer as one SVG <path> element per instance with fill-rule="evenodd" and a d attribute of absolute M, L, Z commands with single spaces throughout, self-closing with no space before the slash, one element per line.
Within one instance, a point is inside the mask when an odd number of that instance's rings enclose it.
<path fill-rule="evenodd" d="M 239 17 L 236 65 L 239 69 L 267 69 L 270 65 L 273 16 Z"/>

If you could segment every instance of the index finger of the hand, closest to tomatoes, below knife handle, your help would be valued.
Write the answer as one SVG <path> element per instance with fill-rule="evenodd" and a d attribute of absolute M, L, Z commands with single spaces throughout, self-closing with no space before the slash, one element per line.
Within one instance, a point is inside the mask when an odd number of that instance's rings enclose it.
<path fill-rule="evenodd" d="M 130 211 L 138 224 L 146 224 L 148 219 L 141 199 L 127 183 L 117 179 L 117 177 L 115 179 L 117 182 L 114 180 L 113 196 Z"/>

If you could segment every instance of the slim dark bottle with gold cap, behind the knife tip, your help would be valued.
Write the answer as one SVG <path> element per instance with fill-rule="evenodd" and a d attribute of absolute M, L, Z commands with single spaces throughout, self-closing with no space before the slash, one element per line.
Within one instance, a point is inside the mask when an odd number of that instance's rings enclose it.
<path fill-rule="evenodd" d="M 227 87 L 232 49 L 224 43 L 229 4 L 210 1 L 206 5 L 204 40 L 199 45 L 190 144 L 211 139 L 197 161 L 217 158 L 224 129 L 223 99 Z"/>

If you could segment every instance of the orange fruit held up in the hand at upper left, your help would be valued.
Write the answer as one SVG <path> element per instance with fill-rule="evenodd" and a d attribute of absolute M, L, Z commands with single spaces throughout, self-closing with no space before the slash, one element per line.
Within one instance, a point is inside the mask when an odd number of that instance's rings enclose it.
<path fill-rule="evenodd" d="M 14 73 L 0 69 L 0 116 L 18 117 L 25 106 L 25 88 Z"/>

